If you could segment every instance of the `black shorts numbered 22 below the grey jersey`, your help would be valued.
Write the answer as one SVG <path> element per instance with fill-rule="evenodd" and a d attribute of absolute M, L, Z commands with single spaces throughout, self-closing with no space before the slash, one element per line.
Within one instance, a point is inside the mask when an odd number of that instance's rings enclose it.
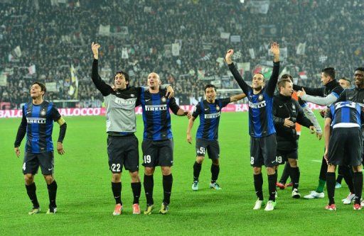
<path fill-rule="evenodd" d="M 139 170 L 138 139 L 134 134 L 127 136 L 107 136 L 109 169 L 112 173 L 122 172 L 122 167 L 130 172 Z"/>

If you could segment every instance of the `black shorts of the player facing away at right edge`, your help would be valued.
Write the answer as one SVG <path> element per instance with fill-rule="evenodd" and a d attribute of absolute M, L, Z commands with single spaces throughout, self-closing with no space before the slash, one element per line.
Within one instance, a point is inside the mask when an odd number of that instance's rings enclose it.
<path fill-rule="evenodd" d="M 360 166 L 363 139 L 360 128 L 333 128 L 328 143 L 328 164 Z"/>

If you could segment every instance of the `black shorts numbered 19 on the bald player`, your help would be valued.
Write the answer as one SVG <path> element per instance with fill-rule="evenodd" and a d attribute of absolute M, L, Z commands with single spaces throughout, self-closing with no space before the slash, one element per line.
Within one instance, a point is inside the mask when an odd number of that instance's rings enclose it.
<path fill-rule="evenodd" d="M 171 167 L 173 166 L 173 139 L 168 140 L 143 140 L 144 167 Z"/>

